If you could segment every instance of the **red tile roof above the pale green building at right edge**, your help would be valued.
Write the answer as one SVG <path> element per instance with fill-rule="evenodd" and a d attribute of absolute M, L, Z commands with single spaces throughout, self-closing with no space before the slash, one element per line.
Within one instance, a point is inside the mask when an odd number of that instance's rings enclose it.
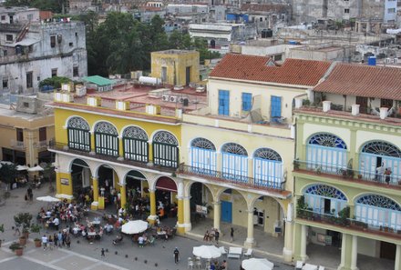
<path fill-rule="evenodd" d="M 314 91 L 401 100 L 401 68 L 339 63 Z"/>

